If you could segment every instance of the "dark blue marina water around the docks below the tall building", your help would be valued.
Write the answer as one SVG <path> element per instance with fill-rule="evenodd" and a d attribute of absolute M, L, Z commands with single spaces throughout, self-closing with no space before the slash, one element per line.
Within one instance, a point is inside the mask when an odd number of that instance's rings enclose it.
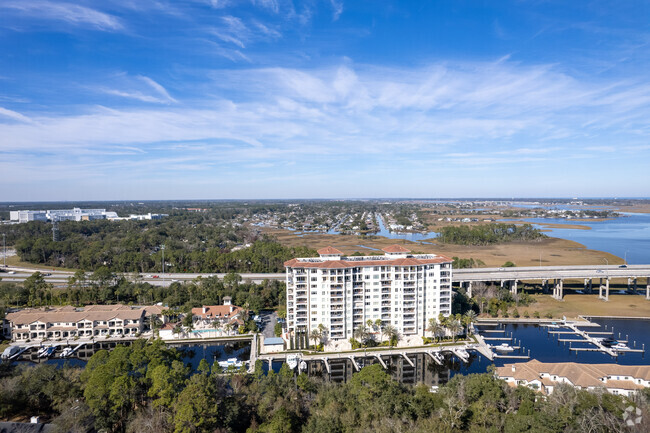
<path fill-rule="evenodd" d="M 650 320 L 637 320 L 637 319 L 601 319 L 594 318 L 591 320 L 594 323 L 601 325 L 600 328 L 589 327 L 584 328 L 591 331 L 614 331 L 613 337 L 626 339 L 629 341 L 630 348 L 641 348 L 645 345 L 650 349 Z M 488 329 L 501 329 L 505 332 L 500 333 L 487 333 L 484 332 Z M 586 343 L 568 343 L 558 341 L 557 334 L 549 334 L 548 329 L 537 325 L 521 325 L 521 324 L 507 324 L 495 326 L 479 326 L 479 330 L 486 337 L 512 337 L 513 341 L 509 343 L 513 346 L 520 346 L 516 352 L 511 354 L 527 355 L 530 350 L 531 358 L 538 359 L 542 362 L 580 362 L 580 363 L 618 363 L 623 365 L 650 365 L 650 359 L 641 353 L 625 353 L 619 355 L 617 358 L 612 358 L 609 355 L 600 352 L 575 352 L 571 351 L 570 347 L 593 347 Z M 570 334 L 563 334 L 560 338 L 573 338 L 579 337 Z M 635 343 L 636 342 L 636 345 Z M 489 344 L 498 345 L 502 341 L 488 341 Z M 175 346 L 183 352 L 183 360 L 185 363 L 196 369 L 201 359 L 206 359 L 210 364 L 215 361 L 226 360 L 228 358 L 236 357 L 240 360 L 248 360 L 250 357 L 250 346 L 246 343 L 235 343 L 230 345 L 211 345 L 211 344 L 196 344 Z M 66 362 L 72 365 L 85 365 L 87 359 L 92 354 L 99 350 L 99 347 L 86 348 L 80 350 L 79 358 L 71 358 L 68 360 L 61 360 L 58 358 L 49 360 L 39 360 L 29 355 L 22 358 L 21 363 L 48 363 L 53 365 L 63 365 Z M 407 363 L 401 356 L 383 357 L 382 359 L 387 364 L 388 372 L 391 376 L 402 383 L 418 384 L 424 383 L 426 385 L 440 385 L 447 382 L 450 378 L 457 374 L 470 374 L 470 373 L 484 373 L 487 371 L 491 361 L 485 357 L 471 353 L 471 358 L 468 363 L 463 363 L 455 356 L 447 353 L 445 354 L 445 362 L 443 365 L 435 363 L 428 355 L 418 354 L 410 355 L 413 366 Z M 29 359 L 29 360 L 28 360 Z M 507 363 L 526 362 L 525 359 L 508 359 L 499 358 L 495 359 L 494 364 L 502 366 Z M 361 366 L 372 365 L 379 363 L 376 358 L 365 357 L 357 358 L 357 362 Z M 328 373 L 322 362 L 310 362 L 307 367 L 307 373 L 314 377 L 322 377 L 326 380 L 335 382 L 346 382 L 356 371 L 352 362 L 346 358 L 336 359 L 332 357 L 330 360 L 331 371 Z M 281 362 L 274 362 L 272 368 L 274 371 L 279 371 L 282 366 Z M 264 370 L 268 370 L 268 363 L 264 363 Z"/>

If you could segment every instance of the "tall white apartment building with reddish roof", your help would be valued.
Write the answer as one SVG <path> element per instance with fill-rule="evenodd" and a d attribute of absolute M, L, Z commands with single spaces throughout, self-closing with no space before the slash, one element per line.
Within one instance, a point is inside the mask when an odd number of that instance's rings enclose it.
<path fill-rule="evenodd" d="M 451 259 L 400 245 L 383 251 L 346 257 L 327 247 L 320 257 L 285 262 L 288 331 L 322 323 L 329 338 L 349 339 L 359 325 L 379 319 L 403 336 L 424 336 L 430 318 L 451 314 Z"/>

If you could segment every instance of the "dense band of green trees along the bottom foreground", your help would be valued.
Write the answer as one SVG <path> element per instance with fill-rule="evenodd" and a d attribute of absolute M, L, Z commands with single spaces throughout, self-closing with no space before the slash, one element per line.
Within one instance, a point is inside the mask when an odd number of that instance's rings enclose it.
<path fill-rule="evenodd" d="M 402 385 L 378 364 L 345 384 L 279 373 L 192 372 L 161 341 L 99 351 L 85 369 L 2 365 L 0 417 L 51 416 L 60 432 L 647 432 L 650 393 L 630 401 L 556 387 L 544 397 L 491 374 L 454 376 L 436 393 Z M 623 414 L 638 407 L 640 424 Z"/>

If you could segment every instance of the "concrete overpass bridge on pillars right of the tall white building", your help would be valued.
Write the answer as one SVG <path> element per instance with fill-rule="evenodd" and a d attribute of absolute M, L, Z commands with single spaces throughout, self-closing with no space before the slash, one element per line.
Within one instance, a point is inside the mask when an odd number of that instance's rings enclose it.
<path fill-rule="evenodd" d="M 628 291 L 636 293 L 639 279 L 646 279 L 645 297 L 650 300 L 650 265 L 583 265 L 583 266 L 535 266 L 513 268 L 472 268 L 454 269 L 452 281 L 465 287 L 472 295 L 477 282 L 497 282 L 501 287 L 508 286 L 517 293 L 520 281 L 540 281 L 545 293 L 553 289 L 553 298 L 561 300 L 564 296 L 564 280 L 583 280 L 584 289 L 591 293 L 593 280 L 598 279 L 598 296 L 609 300 L 609 284 L 613 278 L 627 279 Z"/>

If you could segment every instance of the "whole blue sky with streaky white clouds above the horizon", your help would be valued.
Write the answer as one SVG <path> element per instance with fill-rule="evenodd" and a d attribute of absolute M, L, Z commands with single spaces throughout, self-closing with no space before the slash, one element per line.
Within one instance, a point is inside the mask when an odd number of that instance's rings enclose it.
<path fill-rule="evenodd" d="M 647 1 L 0 2 L 0 201 L 648 196 Z"/>

